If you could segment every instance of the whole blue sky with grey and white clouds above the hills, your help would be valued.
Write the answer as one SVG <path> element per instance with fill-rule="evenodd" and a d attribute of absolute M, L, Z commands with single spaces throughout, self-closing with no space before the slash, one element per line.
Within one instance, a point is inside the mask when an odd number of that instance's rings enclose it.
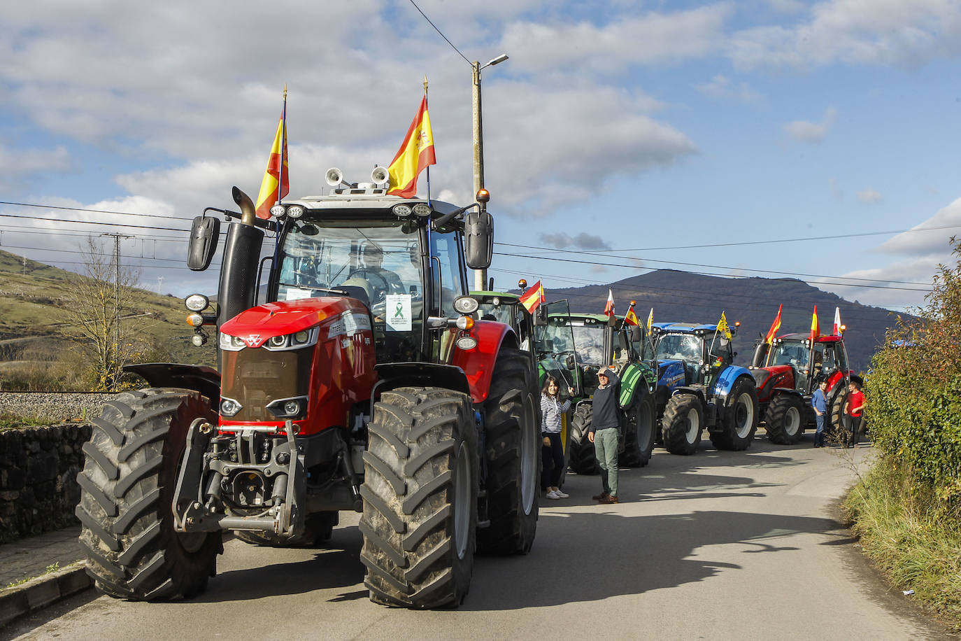
<path fill-rule="evenodd" d="M 388 164 L 426 77 L 431 197 L 466 205 L 470 62 L 506 54 L 481 72 L 498 288 L 670 268 L 902 310 L 954 261 L 961 0 L 415 2 L 5 3 L 0 249 L 79 270 L 124 234 L 142 286 L 212 293 L 186 230 L 256 198 L 284 85 L 290 197 Z"/>

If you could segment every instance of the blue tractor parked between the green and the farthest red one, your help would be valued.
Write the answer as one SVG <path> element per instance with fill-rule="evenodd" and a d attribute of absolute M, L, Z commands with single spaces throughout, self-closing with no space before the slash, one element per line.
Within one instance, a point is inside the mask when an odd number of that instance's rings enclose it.
<path fill-rule="evenodd" d="M 747 449 L 757 430 L 757 389 L 751 372 L 734 365 L 730 337 L 716 324 L 654 323 L 651 331 L 664 448 L 692 455 L 706 428 L 717 449 Z"/>

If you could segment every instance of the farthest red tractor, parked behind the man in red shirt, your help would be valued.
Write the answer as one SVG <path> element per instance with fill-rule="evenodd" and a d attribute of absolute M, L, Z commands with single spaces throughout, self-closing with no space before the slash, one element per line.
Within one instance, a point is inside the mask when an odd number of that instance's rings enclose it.
<path fill-rule="evenodd" d="M 861 378 L 848 367 L 848 352 L 841 333 L 818 336 L 786 333 L 771 343 L 754 348 L 751 373 L 757 381 L 757 400 L 768 438 L 780 445 L 793 445 L 801 433 L 815 425 L 811 395 L 827 382 L 829 422 L 825 431 L 841 429 L 841 410 L 848 396 L 848 383 Z"/>

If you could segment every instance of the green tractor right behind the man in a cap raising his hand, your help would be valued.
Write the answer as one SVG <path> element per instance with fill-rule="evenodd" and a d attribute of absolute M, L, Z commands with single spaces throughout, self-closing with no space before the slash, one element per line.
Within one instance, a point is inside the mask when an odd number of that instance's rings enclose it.
<path fill-rule="evenodd" d="M 561 349 L 558 338 L 571 336 L 569 349 Z M 550 310 L 547 333 L 553 334 L 553 352 L 564 357 L 578 393 L 571 425 L 569 467 L 577 474 L 597 474 L 594 444 L 587 438 L 593 418 L 592 398 L 598 386 L 598 371 L 611 367 L 620 377 L 619 405 L 622 411 L 619 463 L 643 467 L 651 460 L 654 447 L 654 389 L 657 377 L 650 364 L 653 350 L 643 327 L 629 325 L 623 316 L 563 313 Z M 565 337 L 566 340 L 566 337 Z"/>

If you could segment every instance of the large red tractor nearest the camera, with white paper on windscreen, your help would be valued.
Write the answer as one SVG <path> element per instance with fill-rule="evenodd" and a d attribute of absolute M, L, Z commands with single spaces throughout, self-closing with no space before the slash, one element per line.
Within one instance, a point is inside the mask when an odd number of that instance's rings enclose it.
<path fill-rule="evenodd" d="M 373 179 L 332 170 L 329 195 L 269 220 L 236 187 L 240 212 L 214 210 L 237 219 L 216 306 L 186 306 L 195 344 L 215 326 L 219 371 L 132 366 L 152 387 L 109 403 L 84 448 L 80 540 L 104 592 L 190 597 L 224 531 L 318 544 L 341 510 L 362 514 L 364 583 L 380 604 L 460 604 L 476 550 L 530 551 L 537 372 L 466 295 L 465 262 L 491 259 L 486 191 L 457 208 L 386 195 L 382 168 Z M 193 270 L 216 249 L 209 211 L 194 220 Z M 276 244 L 261 259 L 265 231 Z"/>

